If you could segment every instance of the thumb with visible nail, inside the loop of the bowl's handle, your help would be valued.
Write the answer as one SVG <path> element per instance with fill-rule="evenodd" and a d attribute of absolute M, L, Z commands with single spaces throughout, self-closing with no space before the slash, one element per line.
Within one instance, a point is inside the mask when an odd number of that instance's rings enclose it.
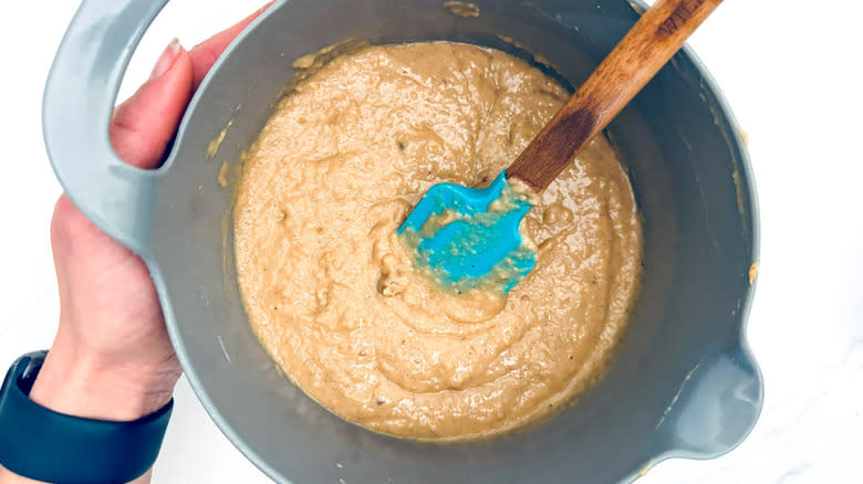
<path fill-rule="evenodd" d="M 193 73 L 189 53 L 175 40 L 149 81 L 114 112 L 108 134 L 119 158 L 138 168 L 159 165 L 191 96 Z"/>

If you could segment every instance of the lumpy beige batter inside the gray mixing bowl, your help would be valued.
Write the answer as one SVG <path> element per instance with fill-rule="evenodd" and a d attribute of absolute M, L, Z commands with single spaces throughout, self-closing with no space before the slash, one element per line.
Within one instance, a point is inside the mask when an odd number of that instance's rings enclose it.
<path fill-rule="evenodd" d="M 522 232 L 506 297 L 417 274 L 396 230 L 433 183 L 484 186 L 568 93 L 501 52 L 365 48 L 304 78 L 245 160 L 239 282 L 252 327 L 324 407 L 405 438 L 467 440 L 550 414 L 603 373 L 638 287 L 641 224 L 604 137 Z"/>

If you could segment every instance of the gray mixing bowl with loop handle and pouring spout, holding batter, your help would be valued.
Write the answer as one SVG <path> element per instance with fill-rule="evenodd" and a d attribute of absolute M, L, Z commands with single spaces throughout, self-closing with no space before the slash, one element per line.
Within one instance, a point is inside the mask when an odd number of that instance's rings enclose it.
<path fill-rule="evenodd" d="M 758 253 L 756 196 L 737 124 L 689 52 L 609 128 L 644 215 L 644 288 L 605 378 L 547 423 L 451 445 L 346 423 L 277 370 L 240 299 L 231 192 L 217 178 L 267 120 L 293 75 L 292 60 L 346 38 L 453 40 L 541 55 L 578 85 L 642 6 L 474 0 L 481 14 L 461 18 L 443 0 L 280 1 L 210 73 L 164 167 L 143 171 L 112 151 L 107 125 L 128 57 L 166 1 L 83 2 L 48 83 L 45 145 L 75 204 L 147 262 L 191 386 L 222 432 L 272 478 L 610 483 L 667 457 L 720 455 L 749 433 L 763 391 L 744 338 Z M 229 122 L 218 155 L 208 158 L 209 141 Z"/>

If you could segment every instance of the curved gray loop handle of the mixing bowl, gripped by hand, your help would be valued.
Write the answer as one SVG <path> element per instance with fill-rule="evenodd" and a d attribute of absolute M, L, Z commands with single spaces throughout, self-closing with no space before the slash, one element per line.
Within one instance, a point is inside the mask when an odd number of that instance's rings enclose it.
<path fill-rule="evenodd" d="M 108 139 L 128 61 L 168 0 L 84 0 L 48 77 L 42 130 L 60 183 L 100 229 L 137 253 L 149 239 L 154 171 L 121 160 Z"/>

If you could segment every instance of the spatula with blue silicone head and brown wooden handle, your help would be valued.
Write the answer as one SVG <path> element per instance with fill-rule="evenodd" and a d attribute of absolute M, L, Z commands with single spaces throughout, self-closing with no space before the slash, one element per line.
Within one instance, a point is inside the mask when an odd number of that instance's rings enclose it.
<path fill-rule="evenodd" d="M 524 151 L 485 189 L 433 186 L 398 234 L 445 287 L 509 292 L 537 262 L 519 232 L 532 200 L 683 46 L 722 0 L 658 0 Z"/>

